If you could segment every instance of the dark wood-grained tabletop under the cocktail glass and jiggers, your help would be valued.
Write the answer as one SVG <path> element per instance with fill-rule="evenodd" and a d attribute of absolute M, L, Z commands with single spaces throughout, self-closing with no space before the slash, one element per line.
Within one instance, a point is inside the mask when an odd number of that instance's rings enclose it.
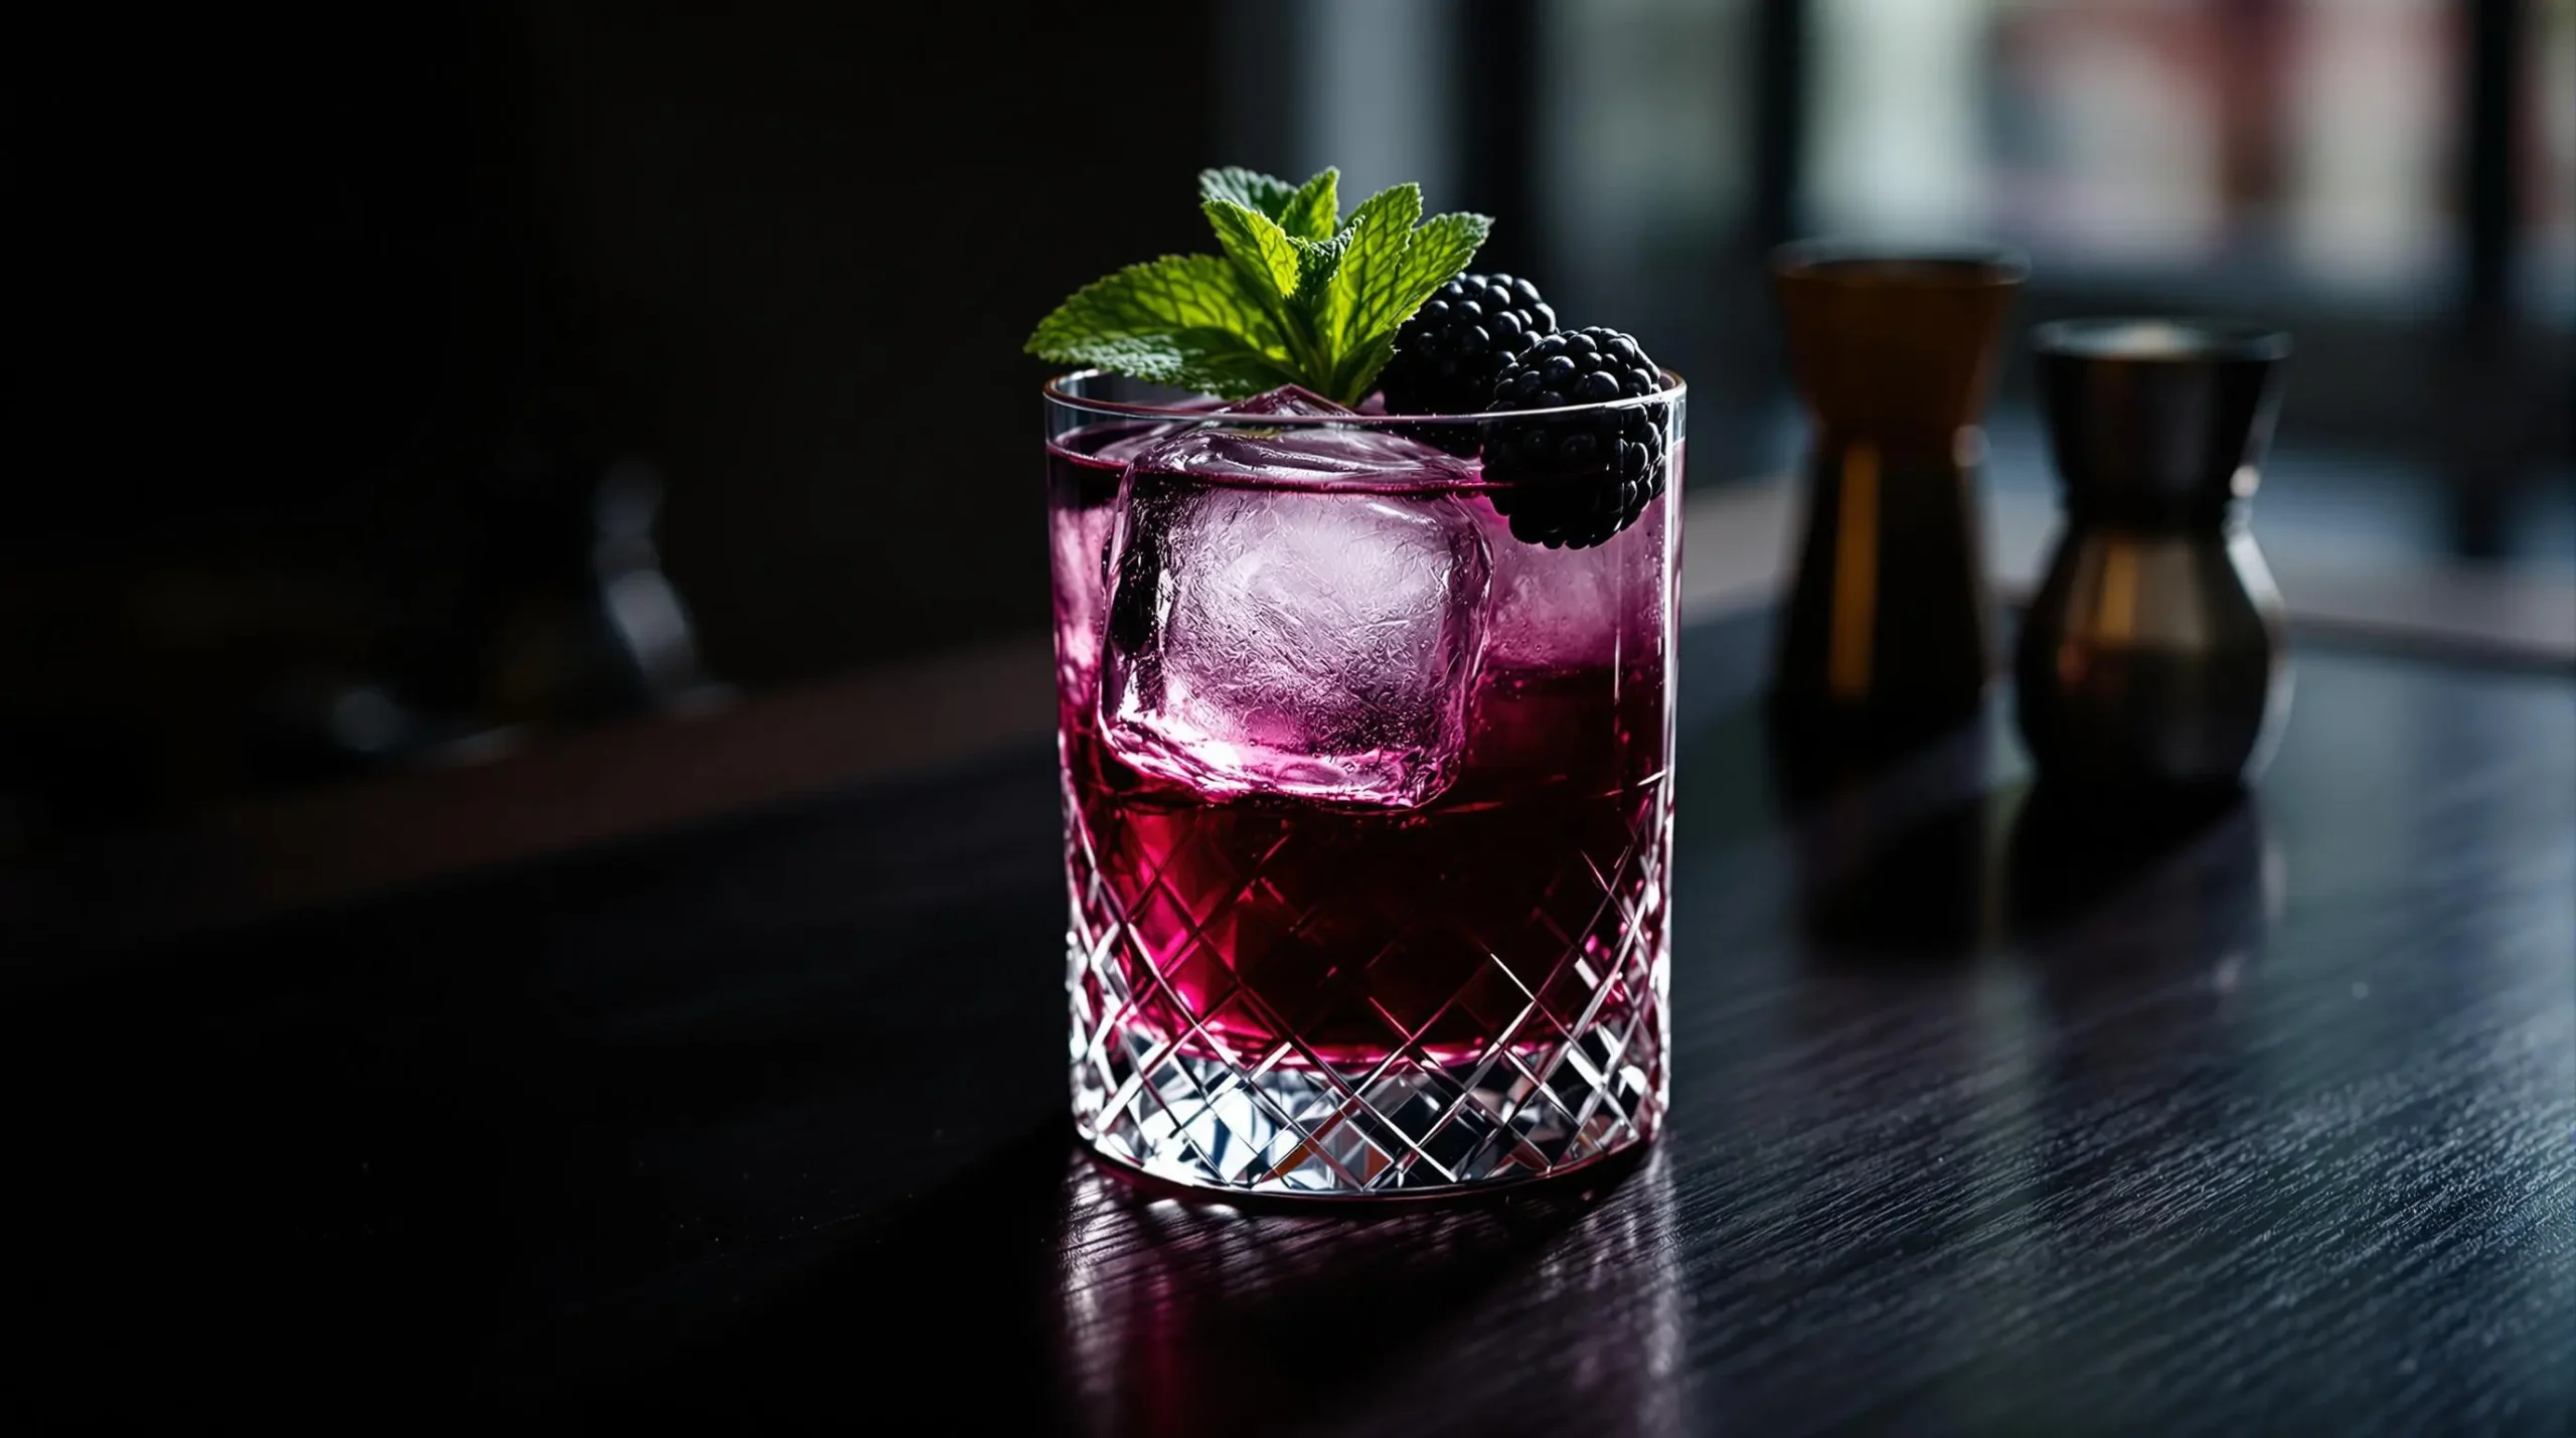
<path fill-rule="evenodd" d="M 23 948 L 0 1417 L 2571 1430 L 2566 673 L 2311 644 L 2257 796 L 2110 843 L 1999 719 L 1790 794 L 1765 631 L 1682 649 L 1672 1129 L 1587 1191 L 1079 1157 L 1030 740 Z"/>

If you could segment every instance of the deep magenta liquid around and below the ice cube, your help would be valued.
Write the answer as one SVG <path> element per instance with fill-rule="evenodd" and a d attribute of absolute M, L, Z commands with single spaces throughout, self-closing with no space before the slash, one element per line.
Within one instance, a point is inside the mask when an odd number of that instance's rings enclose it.
<path fill-rule="evenodd" d="M 1347 1072 L 1391 1054 L 1455 1064 L 1497 1044 L 1553 1049 L 1605 1023 L 1625 1031 L 1654 1005 L 1669 845 L 1659 564 L 1595 613 L 1602 634 L 1574 637 L 1574 660 L 1515 642 L 1497 600 L 1461 773 L 1430 804 L 1211 799 L 1139 773 L 1100 734 L 1115 474 L 1048 451 L 1077 925 L 1108 946 L 1126 1023 L 1231 1064 Z M 1662 508 L 1620 541 L 1659 546 Z M 1615 562 L 1510 559 L 1569 575 Z M 1097 966 L 1077 982 L 1105 987 Z M 1115 995 L 1087 997 L 1092 1013 L 1115 1008 Z"/>

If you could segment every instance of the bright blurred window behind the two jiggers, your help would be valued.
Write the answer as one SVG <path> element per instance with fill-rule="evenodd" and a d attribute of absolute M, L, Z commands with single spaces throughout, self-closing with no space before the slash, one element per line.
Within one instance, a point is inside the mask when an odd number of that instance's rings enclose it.
<path fill-rule="evenodd" d="M 2576 567 L 2576 0 L 1236 10 L 1321 26 L 1285 90 L 1340 119 L 1275 165 L 1409 162 L 1458 186 L 1435 204 L 1515 222 L 1561 312 L 1651 325 L 1692 376 L 1695 484 L 1777 472 L 1798 443 L 1772 242 L 2002 240 L 2035 265 L 2017 325 L 2293 330 L 2275 518 Z M 1525 121 L 1494 124 L 1515 106 Z M 2045 484 L 2020 381 L 2007 366 L 1996 469 Z"/>

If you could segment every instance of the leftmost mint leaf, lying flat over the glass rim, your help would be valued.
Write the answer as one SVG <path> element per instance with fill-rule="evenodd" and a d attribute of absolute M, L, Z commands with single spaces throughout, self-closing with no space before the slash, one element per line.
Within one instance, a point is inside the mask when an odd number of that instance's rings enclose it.
<path fill-rule="evenodd" d="M 1164 255 L 1082 286 L 1038 322 L 1028 353 L 1224 399 L 1303 379 L 1270 307 L 1218 255 Z"/>

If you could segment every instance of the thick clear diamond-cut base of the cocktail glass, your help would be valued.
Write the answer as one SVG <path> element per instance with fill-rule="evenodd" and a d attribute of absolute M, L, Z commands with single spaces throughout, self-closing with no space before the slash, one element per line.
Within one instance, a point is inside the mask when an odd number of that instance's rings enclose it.
<path fill-rule="evenodd" d="M 1079 961 L 1079 959 L 1077 959 Z M 1662 979 L 1662 959 L 1651 961 Z M 1664 1002 L 1569 1044 L 1368 1069 L 1244 1067 L 1074 1018 L 1074 1126 L 1108 1160 L 1190 1188 L 1306 1198 L 1481 1191 L 1649 1142 L 1664 1118 Z"/>

